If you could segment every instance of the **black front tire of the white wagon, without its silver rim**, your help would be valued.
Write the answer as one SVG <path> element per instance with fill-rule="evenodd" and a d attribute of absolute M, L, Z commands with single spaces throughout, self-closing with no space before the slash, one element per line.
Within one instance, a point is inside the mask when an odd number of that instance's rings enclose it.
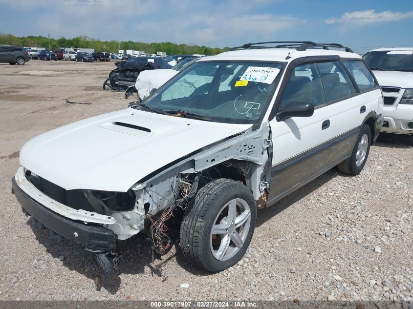
<path fill-rule="evenodd" d="M 245 230 L 247 233 L 246 239 L 242 246 L 237 249 L 235 255 L 227 260 L 219 261 L 212 253 L 210 245 L 212 244 L 211 229 L 213 225 L 217 224 L 215 221 L 217 218 L 219 220 L 218 216 L 223 207 L 236 198 L 242 199 L 248 204 L 251 210 L 250 225 L 248 230 Z M 211 181 L 198 190 L 195 200 L 187 207 L 183 216 L 180 243 L 184 256 L 196 267 L 209 272 L 218 272 L 230 268 L 245 254 L 254 233 L 256 216 L 254 198 L 245 185 L 223 178 Z M 232 241 L 231 244 L 234 245 Z"/>

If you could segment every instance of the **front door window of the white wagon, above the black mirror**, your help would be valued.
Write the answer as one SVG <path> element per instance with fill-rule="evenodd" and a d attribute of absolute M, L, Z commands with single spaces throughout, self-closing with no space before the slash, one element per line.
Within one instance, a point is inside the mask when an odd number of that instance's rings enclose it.
<path fill-rule="evenodd" d="M 323 83 L 315 63 L 295 67 L 281 97 L 280 109 L 296 102 L 311 103 L 314 106 L 326 103 Z"/>

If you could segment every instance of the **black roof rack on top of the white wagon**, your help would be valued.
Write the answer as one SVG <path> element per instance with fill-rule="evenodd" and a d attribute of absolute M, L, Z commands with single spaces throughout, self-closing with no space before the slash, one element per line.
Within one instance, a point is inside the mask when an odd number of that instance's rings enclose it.
<path fill-rule="evenodd" d="M 280 44 L 276 46 L 264 46 L 263 44 Z M 262 46 L 256 46 L 262 45 Z M 268 42 L 257 42 L 257 43 L 247 43 L 242 46 L 233 47 L 231 50 L 238 49 L 256 49 L 256 48 L 295 48 L 296 50 L 306 50 L 307 48 L 323 47 L 323 49 L 328 49 L 328 47 L 333 48 L 344 48 L 347 52 L 352 53 L 353 51 L 349 47 L 345 47 L 339 43 L 315 43 L 312 41 L 268 41 Z"/>

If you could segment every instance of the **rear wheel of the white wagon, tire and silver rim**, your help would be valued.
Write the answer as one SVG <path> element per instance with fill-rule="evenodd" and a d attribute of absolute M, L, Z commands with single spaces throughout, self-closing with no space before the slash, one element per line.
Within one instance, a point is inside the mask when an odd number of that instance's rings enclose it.
<path fill-rule="evenodd" d="M 363 125 L 354 145 L 351 156 L 338 165 L 338 169 L 348 175 L 356 176 L 366 165 L 367 157 L 370 152 L 371 129 L 367 124 Z"/>

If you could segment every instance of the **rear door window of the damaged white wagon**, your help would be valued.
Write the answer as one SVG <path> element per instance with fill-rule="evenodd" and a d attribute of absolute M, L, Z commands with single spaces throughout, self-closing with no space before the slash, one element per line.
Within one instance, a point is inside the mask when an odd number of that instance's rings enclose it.
<path fill-rule="evenodd" d="M 340 62 L 319 62 L 317 66 L 326 91 L 327 103 L 344 100 L 356 94 L 356 89 Z"/>

